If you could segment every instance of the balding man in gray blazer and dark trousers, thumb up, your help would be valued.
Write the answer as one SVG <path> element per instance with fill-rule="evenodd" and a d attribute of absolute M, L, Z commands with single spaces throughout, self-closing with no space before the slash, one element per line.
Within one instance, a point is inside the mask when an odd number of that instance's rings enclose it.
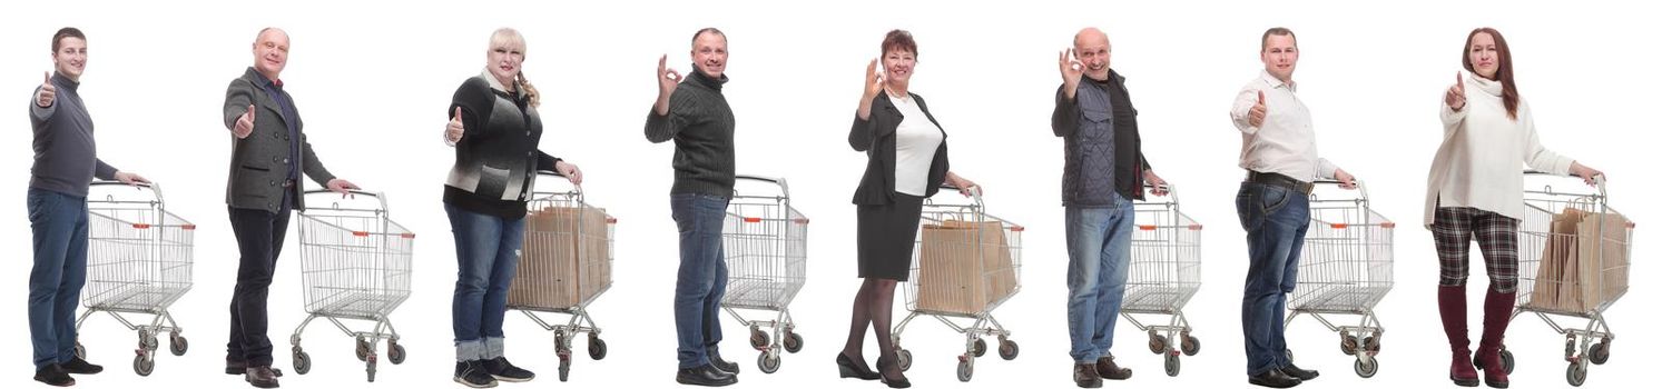
<path fill-rule="evenodd" d="M 271 369 L 266 296 L 288 233 L 289 211 L 306 208 L 301 173 L 331 191 L 344 194 L 357 190 L 329 175 L 306 143 L 299 110 L 278 78 L 288 60 L 289 35 L 278 28 L 261 30 L 254 38 L 254 66 L 231 80 L 224 93 L 224 126 L 234 136 L 224 201 L 243 258 L 231 294 L 224 372 L 243 374 L 254 387 L 278 387 L 281 376 Z"/>

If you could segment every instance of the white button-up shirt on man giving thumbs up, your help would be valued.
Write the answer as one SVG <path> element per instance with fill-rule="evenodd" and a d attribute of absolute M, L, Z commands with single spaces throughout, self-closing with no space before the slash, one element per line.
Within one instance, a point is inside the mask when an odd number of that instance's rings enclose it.
<path fill-rule="evenodd" d="M 1280 173 L 1305 183 L 1316 178 L 1333 178 L 1340 166 L 1316 155 L 1316 131 L 1310 121 L 1310 108 L 1298 100 L 1296 83 L 1283 83 L 1270 71 L 1261 71 L 1235 95 L 1230 120 L 1242 131 L 1243 170 Z M 1251 106 L 1263 91 L 1266 115 L 1253 126 L 1248 118 Z"/>

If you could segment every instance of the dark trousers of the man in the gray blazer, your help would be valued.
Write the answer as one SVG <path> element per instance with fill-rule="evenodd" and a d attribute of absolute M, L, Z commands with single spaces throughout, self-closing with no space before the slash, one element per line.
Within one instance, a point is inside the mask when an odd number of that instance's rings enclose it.
<path fill-rule="evenodd" d="M 236 291 L 231 293 L 231 341 L 224 359 L 248 366 L 271 366 L 271 337 L 266 336 L 266 298 L 271 274 L 278 269 L 283 238 L 289 231 L 289 208 L 231 209 L 231 233 L 243 254 L 236 268 Z"/>

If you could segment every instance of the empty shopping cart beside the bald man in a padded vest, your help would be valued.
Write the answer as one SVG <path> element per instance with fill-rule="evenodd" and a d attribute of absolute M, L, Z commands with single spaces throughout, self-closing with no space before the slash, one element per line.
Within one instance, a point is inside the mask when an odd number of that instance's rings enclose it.
<path fill-rule="evenodd" d="M 1145 186 L 1152 190 L 1153 186 Z M 1137 229 L 1132 231 L 1130 274 L 1120 316 L 1148 332 L 1148 351 L 1165 356 L 1165 374 L 1177 377 L 1182 354 L 1198 354 L 1200 339 L 1190 336 L 1183 306 L 1200 291 L 1200 223 L 1178 209 L 1177 191 L 1167 186 L 1165 201 L 1135 201 Z M 1155 316 L 1165 324 L 1143 324 L 1133 314 Z"/>

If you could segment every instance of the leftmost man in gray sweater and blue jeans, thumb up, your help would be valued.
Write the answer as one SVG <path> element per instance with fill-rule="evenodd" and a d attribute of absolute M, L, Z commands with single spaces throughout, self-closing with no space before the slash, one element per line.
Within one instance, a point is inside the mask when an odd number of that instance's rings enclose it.
<path fill-rule="evenodd" d="M 28 336 L 35 381 L 73 386 L 70 374 L 96 374 L 103 366 L 75 356 L 75 306 L 86 284 L 86 191 L 93 178 L 150 183 L 98 160 L 93 118 L 81 103 L 86 35 L 65 27 L 52 35 L 52 63 L 28 105 L 35 130 L 35 165 L 28 180 L 28 224 L 35 266 L 28 273 Z"/>

